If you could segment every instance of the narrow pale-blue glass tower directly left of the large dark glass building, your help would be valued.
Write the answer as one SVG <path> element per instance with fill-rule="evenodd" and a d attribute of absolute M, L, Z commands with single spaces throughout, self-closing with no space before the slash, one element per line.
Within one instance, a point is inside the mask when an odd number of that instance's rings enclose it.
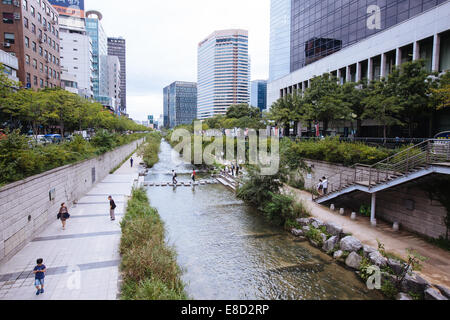
<path fill-rule="evenodd" d="M 291 1 L 270 3 L 269 81 L 289 74 L 291 66 Z"/>

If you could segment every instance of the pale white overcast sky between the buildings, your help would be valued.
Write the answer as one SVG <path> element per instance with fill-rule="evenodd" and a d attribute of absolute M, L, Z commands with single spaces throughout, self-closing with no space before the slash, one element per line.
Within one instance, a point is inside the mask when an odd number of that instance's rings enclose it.
<path fill-rule="evenodd" d="M 108 36 L 127 41 L 127 109 L 135 120 L 163 112 L 163 88 L 197 81 L 197 45 L 215 30 L 249 31 L 251 79 L 269 74 L 270 0 L 85 0 Z"/>

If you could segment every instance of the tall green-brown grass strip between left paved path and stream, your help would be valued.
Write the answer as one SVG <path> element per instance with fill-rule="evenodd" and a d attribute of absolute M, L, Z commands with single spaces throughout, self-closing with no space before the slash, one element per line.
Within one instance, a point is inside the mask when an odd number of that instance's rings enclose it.
<path fill-rule="evenodd" d="M 121 227 L 121 299 L 187 299 L 176 253 L 165 243 L 164 223 L 143 188 L 133 189 Z"/>

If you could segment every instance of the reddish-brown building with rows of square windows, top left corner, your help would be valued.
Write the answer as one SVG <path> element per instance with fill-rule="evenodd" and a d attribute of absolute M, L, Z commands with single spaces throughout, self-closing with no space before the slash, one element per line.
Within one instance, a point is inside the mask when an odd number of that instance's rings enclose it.
<path fill-rule="evenodd" d="M 47 0 L 0 2 L 0 49 L 17 57 L 17 76 L 27 88 L 59 87 L 59 15 Z"/>

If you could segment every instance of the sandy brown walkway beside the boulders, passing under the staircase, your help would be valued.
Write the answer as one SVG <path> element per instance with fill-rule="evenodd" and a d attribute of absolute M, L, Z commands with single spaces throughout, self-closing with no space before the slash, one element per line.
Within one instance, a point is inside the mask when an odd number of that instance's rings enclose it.
<path fill-rule="evenodd" d="M 345 233 L 351 233 L 361 240 L 362 243 L 378 248 L 377 239 L 385 245 L 386 251 L 407 260 L 406 249 L 415 249 L 420 255 L 427 257 L 423 263 L 423 269 L 418 272 L 431 284 L 441 284 L 450 288 L 450 253 L 436 247 L 421 238 L 405 231 L 394 232 L 392 225 L 377 221 L 377 227 L 370 225 L 368 218 L 358 217 L 356 221 L 350 219 L 349 215 L 339 215 L 328 208 L 321 206 L 311 199 L 311 194 L 287 187 L 297 199 L 303 202 L 311 210 L 314 217 L 326 222 L 334 222 L 344 228 Z M 337 209 L 339 210 L 339 209 Z"/>

